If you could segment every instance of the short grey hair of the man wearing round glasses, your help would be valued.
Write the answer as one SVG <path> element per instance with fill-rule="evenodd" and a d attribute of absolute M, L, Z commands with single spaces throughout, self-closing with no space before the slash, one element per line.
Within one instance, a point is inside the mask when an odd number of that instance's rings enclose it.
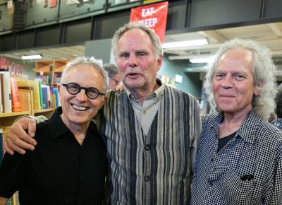
<path fill-rule="evenodd" d="M 94 57 L 77 57 L 73 59 L 72 61 L 69 61 L 66 65 L 66 68 L 63 69 L 63 73 L 61 75 L 61 83 L 65 83 L 65 76 L 66 74 L 71 71 L 75 66 L 79 66 L 82 64 L 87 64 L 92 69 L 96 69 L 99 71 L 100 74 L 103 76 L 104 80 L 104 92 L 108 90 L 108 75 L 107 72 L 103 69 L 102 64 L 99 62 L 99 60 L 95 59 Z M 94 79 L 93 79 L 94 80 Z"/>

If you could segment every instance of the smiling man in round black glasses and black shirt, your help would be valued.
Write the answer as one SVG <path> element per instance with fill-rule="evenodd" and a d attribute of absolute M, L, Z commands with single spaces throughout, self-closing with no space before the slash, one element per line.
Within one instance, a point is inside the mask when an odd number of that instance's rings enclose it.
<path fill-rule="evenodd" d="M 35 151 L 6 153 L 2 161 L 0 205 L 17 190 L 23 205 L 102 204 L 106 147 L 92 118 L 106 101 L 106 78 L 95 59 L 78 57 L 66 66 L 61 107 L 37 124 Z"/>

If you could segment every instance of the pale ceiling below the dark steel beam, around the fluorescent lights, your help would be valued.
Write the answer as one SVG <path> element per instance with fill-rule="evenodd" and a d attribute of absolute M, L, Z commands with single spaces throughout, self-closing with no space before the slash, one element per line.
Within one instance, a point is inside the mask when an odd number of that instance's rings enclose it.
<path fill-rule="evenodd" d="M 193 33 L 181 33 L 175 35 L 166 35 L 165 42 L 180 40 L 195 40 L 206 37 L 209 45 L 182 47 L 178 49 L 164 49 L 168 59 L 190 59 L 199 55 L 211 55 L 219 49 L 220 45 L 226 40 L 234 37 L 252 38 L 269 47 L 273 53 L 274 61 L 281 69 L 282 76 L 282 23 L 266 23 L 259 25 L 241 26 L 235 28 L 222 28 L 216 30 L 205 30 Z M 20 59 L 22 55 L 39 53 L 43 55 L 40 61 L 54 59 L 73 59 L 85 54 L 84 45 L 70 47 L 57 47 L 51 49 L 28 50 L 23 52 L 0 53 L 0 56 L 12 59 Z"/>

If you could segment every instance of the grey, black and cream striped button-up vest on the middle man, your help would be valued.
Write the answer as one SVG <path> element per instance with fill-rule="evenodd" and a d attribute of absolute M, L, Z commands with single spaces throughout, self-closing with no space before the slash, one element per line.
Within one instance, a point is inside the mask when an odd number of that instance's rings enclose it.
<path fill-rule="evenodd" d="M 110 204 L 188 204 L 197 101 L 165 86 L 147 135 L 126 92 L 111 91 L 98 127 L 106 141 Z"/>

